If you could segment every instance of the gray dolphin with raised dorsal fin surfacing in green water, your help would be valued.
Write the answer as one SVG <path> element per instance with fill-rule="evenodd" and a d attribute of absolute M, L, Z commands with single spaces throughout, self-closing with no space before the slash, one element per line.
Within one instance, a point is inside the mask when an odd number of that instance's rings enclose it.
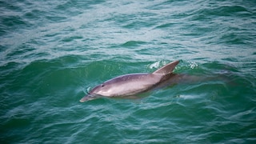
<path fill-rule="evenodd" d="M 166 66 L 155 70 L 151 74 L 125 74 L 112 78 L 95 86 L 80 102 L 95 98 L 129 98 L 149 90 L 176 83 L 183 75 L 174 74 L 173 70 L 179 61 L 170 62 Z"/>

